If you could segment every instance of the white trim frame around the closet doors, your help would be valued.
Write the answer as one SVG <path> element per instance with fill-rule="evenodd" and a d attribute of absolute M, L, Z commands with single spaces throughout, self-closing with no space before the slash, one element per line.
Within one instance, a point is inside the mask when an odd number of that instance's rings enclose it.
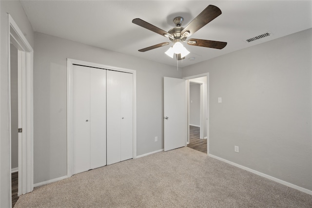
<path fill-rule="evenodd" d="M 132 113 L 133 113 L 133 158 L 137 158 L 137 71 L 132 69 L 120 68 L 115 66 L 108 66 L 99 63 L 92 63 L 72 58 L 67 58 L 67 177 L 73 175 L 73 65 L 81 65 L 87 67 L 94 67 L 100 69 L 113 70 L 118 72 L 131 73 L 132 76 Z"/>

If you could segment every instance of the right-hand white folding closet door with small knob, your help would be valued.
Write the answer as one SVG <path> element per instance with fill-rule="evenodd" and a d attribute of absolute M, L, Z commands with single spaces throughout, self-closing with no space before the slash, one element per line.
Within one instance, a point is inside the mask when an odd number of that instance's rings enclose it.
<path fill-rule="evenodd" d="M 107 165 L 133 158 L 132 74 L 107 71 Z"/>

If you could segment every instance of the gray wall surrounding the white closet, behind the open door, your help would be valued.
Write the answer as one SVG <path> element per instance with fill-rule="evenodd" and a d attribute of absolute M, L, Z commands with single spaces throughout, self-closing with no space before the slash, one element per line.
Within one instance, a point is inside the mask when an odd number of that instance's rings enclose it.
<path fill-rule="evenodd" d="M 136 70 L 137 155 L 163 149 L 163 76 L 181 70 L 41 33 L 34 51 L 34 183 L 67 174 L 66 58 Z"/>

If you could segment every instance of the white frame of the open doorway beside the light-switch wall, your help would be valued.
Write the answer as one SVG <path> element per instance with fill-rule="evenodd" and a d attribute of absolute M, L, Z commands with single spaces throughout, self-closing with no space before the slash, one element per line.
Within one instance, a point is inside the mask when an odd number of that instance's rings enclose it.
<path fill-rule="evenodd" d="M 207 130 L 207 154 L 209 155 L 209 73 L 203 73 L 203 74 L 199 74 L 199 75 L 194 75 L 194 76 L 186 76 L 186 77 L 183 77 L 183 79 L 187 80 L 188 84 L 186 84 L 186 92 L 188 92 L 188 88 L 189 88 L 189 80 L 190 79 L 195 79 L 195 78 L 199 78 L 199 77 L 203 77 L 203 76 L 206 76 L 206 79 L 207 79 L 207 86 L 206 86 L 206 92 L 204 92 L 204 95 L 206 95 L 206 99 L 204 98 L 204 102 L 206 102 L 206 105 L 204 105 L 204 109 L 206 109 L 207 111 L 207 117 L 206 117 L 206 120 L 207 120 L 207 125 L 205 126 L 206 130 Z M 188 95 L 189 96 L 189 95 Z M 186 99 L 186 104 L 189 100 Z M 188 105 L 188 104 L 187 104 Z M 188 108 L 187 108 L 188 109 Z M 189 113 L 189 109 L 187 110 L 187 115 Z M 189 116 L 187 116 L 187 123 L 189 123 Z M 205 121 L 205 119 L 203 120 Z M 205 132 L 203 132 L 204 134 Z M 188 134 L 187 135 L 190 135 L 189 133 L 189 130 L 188 130 Z M 187 137 L 187 139 L 189 139 L 189 136 Z"/>

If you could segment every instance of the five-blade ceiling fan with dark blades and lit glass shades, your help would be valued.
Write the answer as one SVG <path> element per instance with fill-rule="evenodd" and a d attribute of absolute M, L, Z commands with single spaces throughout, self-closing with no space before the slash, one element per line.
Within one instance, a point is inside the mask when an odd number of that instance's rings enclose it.
<path fill-rule="evenodd" d="M 132 22 L 144 27 L 148 30 L 151 30 L 155 33 L 158 33 L 161 36 L 164 36 L 166 38 L 169 38 L 171 42 L 163 42 L 159 43 L 147 48 L 143 48 L 138 50 L 139 52 L 146 52 L 155 48 L 159 48 L 162 46 L 169 45 L 171 43 L 174 43 L 172 47 L 169 48 L 168 51 L 165 53 L 172 57 L 174 54 L 176 54 L 177 60 L 182 60 L 185 58 L 187 54 L 190 52 L 186 50 L 186 48 L 182 45 L 181 42 L 186 42 L 188 45 L 194 45 L 194 46 L 201 46 L 201 47 L 208 47 L 208 48 L 215 48 L 215 49 L 222 49 L 226 46 L 227 42 L 220 42 L 220 41 L 214 41 L 214 40 L 204 40 L 204 39 L 188 39 L 186 38 L 193 35 L 197 30 L 205 26 L 208 22 L 212 21 L 219 15 L 221 15 L 221 10 L 214 6 L 209 5 L 207 6 L 195 19 L 193 19 L 185 28 L 181 27 L 181 24 L 183 22 L 182 17 L 176 17 L 173 21 L 176 24 L 176 27 L 170 29 L 168 32 L 142 20 L 142 19 L 133 19 Z"/>

